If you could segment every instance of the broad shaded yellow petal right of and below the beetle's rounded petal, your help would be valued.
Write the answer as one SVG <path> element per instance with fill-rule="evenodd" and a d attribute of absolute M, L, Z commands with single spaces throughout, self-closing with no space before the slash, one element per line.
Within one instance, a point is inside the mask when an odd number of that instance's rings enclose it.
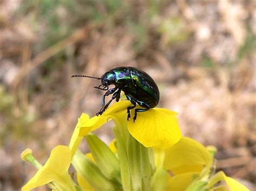
<path fill-rule="evenodd" d="M 200 172 L 204 166 L 210 168 L 212 157 L 206 147 L 196 140 L 182 137 L 165 153 L 164 168 L 173 174 Z"/>

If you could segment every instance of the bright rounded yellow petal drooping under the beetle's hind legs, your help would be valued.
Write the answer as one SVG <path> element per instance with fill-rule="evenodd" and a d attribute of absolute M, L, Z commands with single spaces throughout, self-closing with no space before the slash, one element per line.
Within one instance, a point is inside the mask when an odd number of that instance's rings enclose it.
<path fill-rule="evenodd" d="M 131 111 L 134 116 L 134 110 Z M 136 122 L 127 122 L 131 135 L 145 147 L 167 148 L 176 144 L 181 138 L 177 113 L 153 108 L 146 112 L 138 112 Z"/>

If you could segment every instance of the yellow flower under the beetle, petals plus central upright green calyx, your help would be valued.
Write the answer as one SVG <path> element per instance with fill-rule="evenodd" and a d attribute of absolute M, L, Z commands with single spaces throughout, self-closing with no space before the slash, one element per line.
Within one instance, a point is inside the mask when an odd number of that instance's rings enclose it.
<path fill-rule="evenodd" d="M 84 136 L 113 119 L 116 124 L 114 134 L 119 148 L 117 153 L 123 188 L 147 189 L 150 185 L 151 166 L 146 147 L 170 147 L 179 141 L 181 132 L 177 113 L 167 109 L 153 108 L 146 112 L 139 112 L 136 122 L 127 121 L 127 107 L 130 105 L 130 101 L 119 101 L 107 109 L 103 115 L 90 119 L 83 114 L 78 119 L 71 137 L 70 150 L 73 156 Z M 134 110 L 131 111 L 131 115 L 134 115 Z M 79 178 L 79 182 L 81 180 Z"/>

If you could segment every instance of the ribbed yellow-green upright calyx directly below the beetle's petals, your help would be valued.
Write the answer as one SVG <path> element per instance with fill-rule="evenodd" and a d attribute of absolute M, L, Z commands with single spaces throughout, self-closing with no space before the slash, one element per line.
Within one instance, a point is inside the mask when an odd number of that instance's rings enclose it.
<path fill-rule="evenodd" d="M 134 139 L 126 122 L 116 122 L 114 134 L 124 190 L 151 190 L 151 164 L 148 148 Z"/>

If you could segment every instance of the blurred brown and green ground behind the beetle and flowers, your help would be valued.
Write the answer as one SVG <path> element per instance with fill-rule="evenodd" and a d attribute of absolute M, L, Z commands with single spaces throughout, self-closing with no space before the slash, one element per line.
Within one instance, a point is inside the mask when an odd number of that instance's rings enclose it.
<path fill-rule="evenodd" d="M 17 190 L 100 109 L 100 77 L 145 70 L 184 136 L 218 148 L 217 168 L 256 183 L 255 0 L 1 0 L 0 190 Z M 96 133 L 109 143 L 112 124 Z M 85 143 L 81 149 L 86 151 Z"/>

